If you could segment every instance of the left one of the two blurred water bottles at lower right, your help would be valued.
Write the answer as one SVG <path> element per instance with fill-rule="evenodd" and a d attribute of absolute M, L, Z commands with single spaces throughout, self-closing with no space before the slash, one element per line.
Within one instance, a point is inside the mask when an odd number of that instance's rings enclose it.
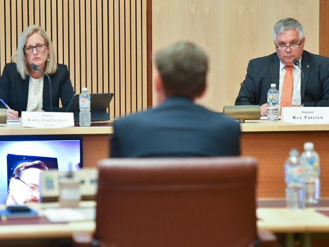
<path fill-rule="evenodd" d="M 300 162 L 297 149 L 291 149 L 289 157 L 284 163 L 285 175 L 285 198 L 289 209 L 299 209 L 305 207 L 305 165 Z"/>

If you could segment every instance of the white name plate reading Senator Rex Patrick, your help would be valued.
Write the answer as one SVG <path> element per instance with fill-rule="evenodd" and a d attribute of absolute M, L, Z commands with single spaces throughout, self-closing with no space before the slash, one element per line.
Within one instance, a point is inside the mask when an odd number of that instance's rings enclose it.
<path fill-rule="evenodd" d="M 329 123 L 329 107 L 284 107 L 281 121 L 294 124 Z"/>

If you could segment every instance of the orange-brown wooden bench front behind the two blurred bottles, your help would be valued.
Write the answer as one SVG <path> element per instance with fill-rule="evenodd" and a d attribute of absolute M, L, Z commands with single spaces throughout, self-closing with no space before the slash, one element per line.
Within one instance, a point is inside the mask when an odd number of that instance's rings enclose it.
<path fill-rule="evenodd" d="M 257 197 L 284 197 L 284 162 L 291 148 L 303 151 L 304 142 L 313 142 L 320 156 L 321 197 L 329 196 L 328 132 L 243 132 L 241 153 L 258 159 Z M 265 153 L 271 140 L 271 152 Z"/>

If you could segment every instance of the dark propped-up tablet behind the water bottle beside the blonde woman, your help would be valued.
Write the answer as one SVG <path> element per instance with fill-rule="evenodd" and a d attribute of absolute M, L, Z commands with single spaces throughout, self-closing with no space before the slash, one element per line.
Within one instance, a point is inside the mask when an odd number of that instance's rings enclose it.
<path fill-rule="evenodd" d="M 113 98 L 113 93 L 91 93 L 91 121 L 109 120 L 107 108 Z M 73 95 L 66 112 L 74 114 L 74 121 L 79 122 L 79 94 Z"/>

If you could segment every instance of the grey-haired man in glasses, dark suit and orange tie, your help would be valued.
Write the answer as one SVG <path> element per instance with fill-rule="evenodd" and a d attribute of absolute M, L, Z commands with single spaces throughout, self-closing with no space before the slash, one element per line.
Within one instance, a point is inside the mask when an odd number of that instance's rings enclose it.
<path fill-rule="evenodd" d="M 262 116 L 266 116 L 267 91 L 270 84 L 275 83 L 281 107 L 328 107 L 329 58 L 304 51 L 305 37 L 301 23 L 293 18 L 279 20 L 273 28 L 273 40 L 276 53 L 249 61 L 247 75 L 235 104 L 259 104 Z M 299 61 L 304 77 L 294 59 Z M 289 67 L 293 76 L 290 91 L 285 83 Z"/>

